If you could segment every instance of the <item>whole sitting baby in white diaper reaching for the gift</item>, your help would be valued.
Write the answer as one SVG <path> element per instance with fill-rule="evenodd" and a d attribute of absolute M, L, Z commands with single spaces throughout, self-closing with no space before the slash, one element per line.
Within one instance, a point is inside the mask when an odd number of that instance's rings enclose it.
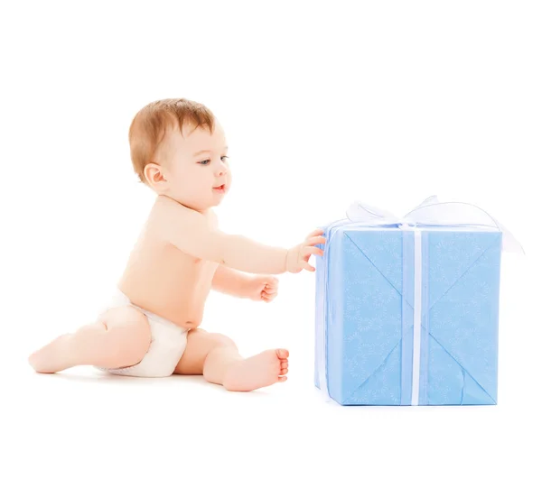
<path fill-rule="evenodd" d="M 129 130 L 131 159 L 156 198 L 116 294 L 96 322 L 32 354 L 38 373 L 92 365 L 113 374 L 202 374 L 229 391 L 285 382 L 288 351 L 243 358 L 227 336 L 199 328 L 210 290 L 269 302 L 284 272 L 313 272 L 322 231 L 290 249 L 220 231 L 212 208 L 229 191 L 228 143 L 212 112 L 184 98 L 151 103 Z"/>

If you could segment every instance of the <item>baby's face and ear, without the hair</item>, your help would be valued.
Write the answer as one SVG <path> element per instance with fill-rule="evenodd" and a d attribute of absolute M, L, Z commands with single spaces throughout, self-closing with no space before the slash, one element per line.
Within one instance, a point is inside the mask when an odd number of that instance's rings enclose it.
<path fill-rule="evenodd" d="M 164 177 L 168 194 L 198 211 L 216 207 L 231 185 L 228 143 L 220 124 L 213 134 L 205 128 L 174 131 L 166 142 Z"/>

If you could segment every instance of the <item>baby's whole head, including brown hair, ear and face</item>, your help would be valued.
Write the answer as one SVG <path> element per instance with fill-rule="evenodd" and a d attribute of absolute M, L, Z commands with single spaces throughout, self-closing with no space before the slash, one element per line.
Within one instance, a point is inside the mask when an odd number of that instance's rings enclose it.
<path fill-rule="evenodd" d="M 158 195 L 203 212 L 229 190 L 228 144 L 206 106 L 185 98 L 155 101 L 135 115 L 129 143 L 135 173 Z"/>

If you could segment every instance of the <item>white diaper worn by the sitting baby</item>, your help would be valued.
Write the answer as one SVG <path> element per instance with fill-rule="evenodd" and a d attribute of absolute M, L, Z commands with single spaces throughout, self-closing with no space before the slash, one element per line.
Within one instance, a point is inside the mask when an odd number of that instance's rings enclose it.
<path fill-rule="evenodd" d="M 170 320 L 159 317 L 156 314 L 135 306 L 120 290 L 116 290 L 112 299 L 108 302 L 107 308 L 123 307 L 131 305 L 140 310 L 146 316 L 151 327 L 151 344 L 144 358 L 133 366 L 125 368 L 110 369 L 98 368 L 101 371 L 107 371 L 112 374 L 122 374 L 125 376 L 140 376 L 146 378 L 161 378 L 171 376 L 175 366 L 184 354 L 186 349 L 187 328 L 176 326 Z"/>

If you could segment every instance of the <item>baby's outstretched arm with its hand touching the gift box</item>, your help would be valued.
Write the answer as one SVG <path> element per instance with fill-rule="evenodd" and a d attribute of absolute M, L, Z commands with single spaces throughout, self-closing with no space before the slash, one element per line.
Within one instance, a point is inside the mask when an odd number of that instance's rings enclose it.
<path fill-rule="evenodd" d="M 325 242 L 322 236 L 317 236 L 322 234 L 319 230 L 309 235 L 304 243 L 285 249 L 257 243 L 244 235 L 226 234 L 210 226 L 206 216 L 169 198 L 160 200 L 158 210 L 158 232 L 167 242 L 184 253 L 240 272 L 314 271 L 308 260 L 312 254 L 322 255 L 322 250 L 315 246 Z"/>

